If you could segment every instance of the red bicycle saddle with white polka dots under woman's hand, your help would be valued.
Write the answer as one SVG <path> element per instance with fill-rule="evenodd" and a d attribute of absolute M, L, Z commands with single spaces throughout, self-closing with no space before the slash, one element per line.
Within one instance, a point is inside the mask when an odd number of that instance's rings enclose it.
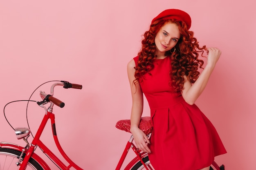
<path fill-rule="evenodd" d="M 117 121 L 116 128 L 120 130 L 124 130 L 126 132 L 130 132 L 131 122 L 130 119 L 126 120 L 119 120 Z M 139 128 L 142 130 L 146 135 L 149 135 L 153 131 L 153 126 L 150 121 L 150 117 L 141 117 Z"/>

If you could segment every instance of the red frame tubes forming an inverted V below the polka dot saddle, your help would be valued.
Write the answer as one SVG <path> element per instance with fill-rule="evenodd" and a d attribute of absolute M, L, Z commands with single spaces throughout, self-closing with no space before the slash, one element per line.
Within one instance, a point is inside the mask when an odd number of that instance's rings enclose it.
<path fill-rule="evenodd" d="M 132 148 L 132 150 L 135 152 L 137 158 L 141 161 L 141 163 L 143 164 L 143 166 L 146 168 L 146 170 L 149 170 L 148 167 L 146 166 L 146 164 L 144 163 L 144 161 L 141 158 L 141 150 L 139 150 L 133 143 L 133 136 L 131 135 L 130 140 L 127 142 L 126 147 L 124 148 L 124 152 L 117 164 L 117 168 L 115 170 L 120 170 L 121 166 L 124 163 L 124 159 L 126 158 L 126 155 L 128 154 L 128 151 L 130 150 L 130 148 Z"/>

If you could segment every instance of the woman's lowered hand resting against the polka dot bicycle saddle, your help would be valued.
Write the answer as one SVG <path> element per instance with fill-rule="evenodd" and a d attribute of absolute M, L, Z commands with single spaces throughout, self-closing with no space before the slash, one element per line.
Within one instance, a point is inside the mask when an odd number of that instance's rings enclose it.
<path fill-rule="evenodd" d="M 150 153 L 151 151 L 147 146 L 147 143 L 149 144 L 150 141 L 147 135 L 137 127 L 131 128 L 130 131 L 132 132 L 133 139 L 135 141 L 137 148 L 139 148 L 142 152 Z"/>

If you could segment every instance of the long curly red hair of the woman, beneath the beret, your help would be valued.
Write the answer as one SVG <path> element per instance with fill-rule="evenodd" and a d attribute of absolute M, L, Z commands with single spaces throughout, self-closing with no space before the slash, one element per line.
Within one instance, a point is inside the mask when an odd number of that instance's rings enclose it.
<path fill-rule="evenodd" d="M 166 56 L 171 56 L 171 86 L 175 88 L 175 91 L 182 90 L 184 86 L 184 75 L 188 77 L 191 83 L 194 83 L 200 72 L 198 68 L 202 68 L 204 64 L 203 60 L 199 60 L 199 53 L 203 53 L 206 46 L 200 48 L 198 41 L 193 37 L 193 31 L 187 30 L 186 24 L 182 21 L 171 20 L 156 20 L 150 25 L 149 31 L 144 33 L 144 39 L 142 40 L 142 47 L 138 53 L 139 60 L 137 67 L 135 67 L 135 81 L 142 81 L 144 74 L 150 74 L 150 71 L 154 68 L 154 60 L 157 58 L 155 55 L 155 36 L 162 26 L 166 23 L 177 24 L 180 31 L 180 39 L 175 45 L 175 51 L 171 53 L 166 51 Z"/>

